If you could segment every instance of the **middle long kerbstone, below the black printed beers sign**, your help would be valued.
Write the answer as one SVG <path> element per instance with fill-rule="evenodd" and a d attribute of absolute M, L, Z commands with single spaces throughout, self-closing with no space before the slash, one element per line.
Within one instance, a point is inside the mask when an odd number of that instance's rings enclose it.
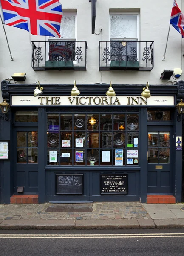
<path fill-rule="evenodd" d="M 76 229 L 139 229 L 137 220 L 76 220 Z"/>

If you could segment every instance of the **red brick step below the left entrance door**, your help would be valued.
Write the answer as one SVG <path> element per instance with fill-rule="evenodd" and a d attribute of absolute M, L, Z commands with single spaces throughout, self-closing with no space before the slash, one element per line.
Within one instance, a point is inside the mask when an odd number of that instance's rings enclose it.
<path fill-rule="evenodd" d="M 12 195 L 10 204 L 38 204 L 38 195 Z"/>

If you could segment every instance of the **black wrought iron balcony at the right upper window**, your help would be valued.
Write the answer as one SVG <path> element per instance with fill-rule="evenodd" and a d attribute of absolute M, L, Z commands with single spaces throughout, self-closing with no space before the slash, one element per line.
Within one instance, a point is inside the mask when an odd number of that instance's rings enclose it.
<path fill-rule="evenodd" d="M 153 41 L 99 41 L 99 70 L 151 71 Z"/>

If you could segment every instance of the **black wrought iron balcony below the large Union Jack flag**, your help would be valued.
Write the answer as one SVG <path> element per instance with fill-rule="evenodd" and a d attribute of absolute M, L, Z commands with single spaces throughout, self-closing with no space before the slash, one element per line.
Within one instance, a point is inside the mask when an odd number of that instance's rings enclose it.
<path fill-rule="evenodd" d="M 86 70 L 86 41 L 32 41 L 32 68 Z"/>

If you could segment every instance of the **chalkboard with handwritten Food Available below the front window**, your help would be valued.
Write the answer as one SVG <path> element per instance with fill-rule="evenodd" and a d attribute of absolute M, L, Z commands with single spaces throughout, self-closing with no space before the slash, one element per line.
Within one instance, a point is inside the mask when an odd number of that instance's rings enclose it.
<path fill-rule="evenodd" d="M 83 194 L 83 174 L 56 174 L 56 194 Z"/>

